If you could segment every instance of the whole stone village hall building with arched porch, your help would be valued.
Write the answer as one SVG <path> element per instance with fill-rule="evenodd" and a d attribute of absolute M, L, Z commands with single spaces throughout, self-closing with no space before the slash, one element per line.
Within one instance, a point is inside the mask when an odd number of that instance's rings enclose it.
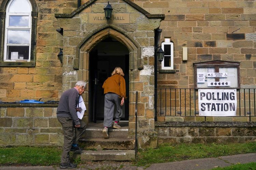
<path fill-rule="evenodd" d="M 122 120 L 129 122 L 130 136 L 136 126 L 138 91 L 140 147 L 156 147 L 157 142 L 255 140 L 256 1 L 110 0 L 110 20 L 104 15 L 107 3 L 0 0 L 0 100 L 58 101 L 63 91 L 84 80 L 88 83 L 83 95 L 84 120 L 93 123 L 103 119 L 103 81 L 120 66 L 128 96 Z M 159 47 L 165 51 L 163 61 L 156 57 Z M 231 82 L 229 86 L 209 87 L 206 74 L 204 83 L 198 81 L 199 72 L 221 71 L 229 73 L 225 79 Z M 185 91 L 183 96 L 181 88 L 192 89 L 195 95 Z M 246 93 L 246 97 L 251 95 L 250 116 L 246 115 L 250 108 L 245 106 L 245 97 L 238 117 L 198 116 L 198 105 L 188 104 L 196 101 L 195 88 L 252 89 Z M 176 106 L 181 109 L 176 111 Z M 56 104 L 2 103 L 0 114 L 0 132 L 7 135 L 0 137 L 1 145 L 59 145 Z M 201 121 L 211 122 L 198 124 Z M 213 126 L 218 121 L 229 123 Z M 237 127 L 247 129 L 246 139 L 238 137 L 243 135 Z M 219 140 L 218 136 L 224 137 Z"/>

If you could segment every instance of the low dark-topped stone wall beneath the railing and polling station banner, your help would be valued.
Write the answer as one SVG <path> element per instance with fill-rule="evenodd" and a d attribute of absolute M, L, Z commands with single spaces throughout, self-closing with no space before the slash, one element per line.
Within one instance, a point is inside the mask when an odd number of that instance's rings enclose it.
<path fill-rule="evenodd" d="M 163 143 L 244 143 L 256 141 L 255 122 L 157 122 Z"/>

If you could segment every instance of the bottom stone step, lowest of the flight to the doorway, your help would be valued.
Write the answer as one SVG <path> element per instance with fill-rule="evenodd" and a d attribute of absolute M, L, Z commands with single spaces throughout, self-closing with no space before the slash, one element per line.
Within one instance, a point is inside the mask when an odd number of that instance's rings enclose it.
<path fill-rule="evenodd" d="M 74 152 L 73 157 L 81 160 L 116 160 L 126 161 L 135 158 L 135 150 L 102 150 Z"/>

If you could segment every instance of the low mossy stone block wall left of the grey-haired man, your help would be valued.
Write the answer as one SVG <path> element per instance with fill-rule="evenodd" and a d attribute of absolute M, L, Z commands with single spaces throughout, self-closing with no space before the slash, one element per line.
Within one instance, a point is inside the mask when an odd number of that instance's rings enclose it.
<path fill-rule="evenodd" d="M 0 107 L 0 147 L 62 146 L 57 107 Z"/>

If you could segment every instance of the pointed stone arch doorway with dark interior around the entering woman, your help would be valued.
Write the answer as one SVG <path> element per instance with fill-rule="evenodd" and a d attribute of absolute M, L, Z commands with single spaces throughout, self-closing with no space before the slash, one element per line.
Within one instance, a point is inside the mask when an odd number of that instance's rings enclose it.
<path fill-rule="evenodd" d="M 112 56 L 112 58 L 108 56 L 111 55 L 110 51 L 108 51 L 106 55 L 100 54 L 104 53 L 104 51 L 98 51 L 96 54 L 96 51 L 99 50 L 99 48 L 101 48 L 100 46 L 104 46 L 104 44 L 112 44 L 112 46 L 116 44 L 118 49 L 115 52 L 117 54 L 114 54 L 113 50 L 112 54 L 114 55 Z M 87 100 L 85 100 L 88 108 L 87 121 L 90 122 L 103 119 L 102 112 L 104 106 L 104 96 L 102 95 L 101 88 L 103 83 L 102 81 L 104 81 L 105 78 L 110 76 L 111 72 L 115 67 L 114 65 L 117 66 L 118 62 L 120 62 L 120 66 L 123 66 L 122 69 L 125 71 L 125 79 L 127 86 L 126 93 L 128 96 L 128 99 L 125 103 L 126 106 L 123 110 L 124 115 L 122 119 L 129 120 L 129 115 L 134 114 L 133 109 L 129 109 L 133 108 L 133 103 L 129 103 L 129 94 L 130 92 L 132 92 L 131 90 L 129 90 L 129 87 L 133 86 L 133 77 L 130 78 L 130 76 L 133 76 L 134 67 L 137 67 L 134 61 L 137 61 L 137 54 L 138 51 L 140 50 L 141 49 L 136 44 L 136 42 L 132 41 L 127 35 L 122 33 L 120 30 L 111 27 L 99 30 L 90 37 L 85 37 L 85 39 L 82 41 L 81 45 L 79 46 L 80 64 L 78 72 L 81 74 L 81 78 L 88 82 L 86 91 Z M 95 67 L 99 68 L 95 69 Z M 96 75 L 101 75 L 101 78 L 95 77 Z"/>

